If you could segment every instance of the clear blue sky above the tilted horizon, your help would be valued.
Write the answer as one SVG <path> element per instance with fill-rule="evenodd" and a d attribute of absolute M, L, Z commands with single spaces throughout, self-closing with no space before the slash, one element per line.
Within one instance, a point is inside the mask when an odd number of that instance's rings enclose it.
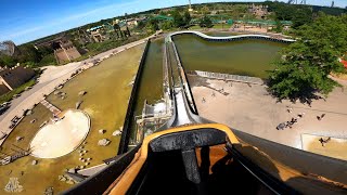
<path fill-rule="evenodd" d="M 192 0 L 192 3 L 214 1 L 222 0 Z M 20 44 L 102 18 L 187 2 L 188 0 L 1 0 L 0 41 L 13 40 Z M 331 0 L 307 2 L 331 4 Z M 335 5 L 345 8 L 347 0 L 335 0 Z"/>

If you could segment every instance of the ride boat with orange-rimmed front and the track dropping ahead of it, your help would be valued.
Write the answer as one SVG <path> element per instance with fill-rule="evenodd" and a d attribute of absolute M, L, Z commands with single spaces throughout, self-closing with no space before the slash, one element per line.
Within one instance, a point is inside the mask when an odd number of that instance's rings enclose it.
<path fill-rule="evenodd" d="M 346 193 L 345 161 L 200 117 L 171 36 L 164 46 L 164 90 L 171 117 L 133 147 L 121 145 L 125 153 L 64 194 Z"/>

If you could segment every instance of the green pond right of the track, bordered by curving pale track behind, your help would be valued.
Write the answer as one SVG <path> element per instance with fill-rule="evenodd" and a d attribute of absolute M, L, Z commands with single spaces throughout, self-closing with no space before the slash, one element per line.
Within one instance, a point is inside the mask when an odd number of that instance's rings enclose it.
<path fill-rule="evenodd" d="M 229 36 L 228 34 L 226 34 Z M 214 35 L 216 36 L 216 35 Z M 220 35 L 219 35 L 220 36 Z M 193 35 L 174 37 L 187 70 L 205 70 L 266 78 L 285 43 L 266 40 L 206 41 Z"/>

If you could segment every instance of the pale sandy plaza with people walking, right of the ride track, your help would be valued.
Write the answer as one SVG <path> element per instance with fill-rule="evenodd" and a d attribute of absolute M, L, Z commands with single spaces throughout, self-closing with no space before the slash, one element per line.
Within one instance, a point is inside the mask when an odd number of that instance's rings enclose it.
<path fill-rule="evenodd" d="M 347 84 L 344 84 L 346 88 Z M 265 86 L 211 79 L 200 79 L 191 86 L 202 117 L 256 136 L 297 148 L 301 148 L 300 135 L 304 133 L 347 139 L 347 90 L 342 88 L 334 89 L 326 101 L 312 102 L 310 107 L 288 101 L 279 103 L 268 94 Z M 221 89 L 228 95 L 216 91 Z M 215 96 L 211 95 L 214 91 Z M 293 112 L 288 113 L 286 106 Z M 275 129 L 279 123 L 297 117 L 299 113 L 305 113 L 305 116 L 292 129 Z M 318 120 L 317 116 L 322 114 L 325 117 Z"/>

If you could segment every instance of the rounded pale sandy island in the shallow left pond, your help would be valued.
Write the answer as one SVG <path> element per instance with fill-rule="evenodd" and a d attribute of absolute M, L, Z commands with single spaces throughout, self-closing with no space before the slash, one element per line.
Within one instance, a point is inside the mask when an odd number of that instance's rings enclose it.
<path fill-rule="evenodd" d="M 57 158 L 77 148 L 90 129 L 85 112 L 67 110 L 64 118 L 42 127 L 30 143 L 31 155 L 38 158 Z"/>

